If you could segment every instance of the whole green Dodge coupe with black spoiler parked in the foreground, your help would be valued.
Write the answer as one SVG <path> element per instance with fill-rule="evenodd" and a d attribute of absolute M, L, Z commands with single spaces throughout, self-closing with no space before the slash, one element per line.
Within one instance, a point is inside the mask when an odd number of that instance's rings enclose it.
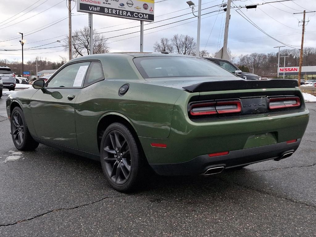
<path fill-rule="evenodd" d="M 101 161 L 114 189 L 131 191 L 150 167 L 210 175 L 289 157 L 309 118 L 297 86 L 186 55 L 108 53 L 70 60 L 6 106 L 17 149 L 42 143 Z"/>

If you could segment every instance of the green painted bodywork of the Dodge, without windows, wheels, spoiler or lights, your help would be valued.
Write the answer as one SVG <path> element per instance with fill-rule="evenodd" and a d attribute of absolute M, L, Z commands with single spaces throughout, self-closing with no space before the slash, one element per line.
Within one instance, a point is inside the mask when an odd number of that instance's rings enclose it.
<path fill-rule="evenodd" d="M 119 121 L 125 121 L 133 128 L 148 163 L 161 174 L 172 172 L 159 165 L 190 165 L 188 162 L 198 157 L 202 159 L 202 156 L 204 161 L 211 160 L 212 157 L 205 156 L 213 153 L 240 150 L 253 152 L 253 149 L 258 147 L 270 149 L 272 152 L 278 144 L 282 145 L 283 151 L 286 150 L 286 142 L 295 139 L 298 139 L 297 144 L 289 147 L 289 150 L 297 149 L 309 119 L 304 100 L 301 100 L 300 109 L 289 112 L 206 120 L 191 119 L 188 104 L 201 98 L 239 98 L 266 96 L 269 93 L 303 98 L 298 88 L 189 92 L 183 87 L 208 82 L 210 79 L 145 80 L 133 59 L 150 56 L 175 55 L 110 53 L 73 59 L 65 65 L 86 61 L 100 62 L 105 80 L 83 88 L 46 88 L 46 92 L 35 89 L 13 92 L 7 99 L 8 116 L 10 117 L 14 106 L 20 106 L 31 135 L 39 142 L 96 160 L 100 159 L 100 126 L 108 120 L 115 121 L 119 118 Z M 234 75 L 229 79 L 243 80 Z M 119 89 L 126 83 L 129 84 L 128 92 L 120 96 Z M 74 100 L 67 99 L 69 94 L 75 95 Z M 104 131 L 104 128 L 102 129 Z M 151 143 L 162 143 L 167 147 L 155 147 Z M 207 163 L 202 167 L 203 170 L 197 172 L 204 172 L 204 168 L 209 166 L 213 167 L 213 163 Z M 190 167 L 185 167 L 184 172 L 186 169 Z"/>

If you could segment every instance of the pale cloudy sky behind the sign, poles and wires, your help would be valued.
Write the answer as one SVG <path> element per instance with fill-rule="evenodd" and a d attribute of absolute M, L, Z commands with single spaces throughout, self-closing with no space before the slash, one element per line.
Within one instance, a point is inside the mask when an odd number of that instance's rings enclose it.
<path fill-rule="evenodd" d="M 126 2 L 126 0 L 119 1 Z M 232 6 L 273 1 L 275 0 L 234 0 Z M 62 46 L 63 43 L 56 42 L 63 40 L 68 34 L 67 2 L 67 0 L 1 0 L 0 50 L 13 49 L 18 51 L 1 51 L 0 58 L 21 61 L 21 45 L 19 43 L 21 35 L 17 35 L 16 32 L 24 34 L 26 40 L 24 49 L 31 48 L 24 51 L 25 61 L 36 56 L 51 61 L 60 60 L 59 56 L 67 58 L 68 53 L 63 51 L 63 47 L 57 47 Z M 196 39 L 197 18 L 187 19 L 193 15 L 186 0 L 155 0 L 155 2 L 155 22 L 149 25 L 145 23 L 144 26 L 144 51 L 152 52 L 156 40 L 161 37 L 170 38 L 176 33 L 188 34 Z M 193 0 L 193 2 L 197 4 L 198 0 Z M 202 14 L 205 15 L 202 16 L 201 23 L 201 50 L 206 49 L 213 53 L 222 47 L 226 13 L 217 10 L 222 9 L 219 6 L 223 2 L 225 3 L 225 0 L 202 0 L 202 9 L 204 9 Z M 75 2 L 72 2 L 72 7 L 74 8 L 72 11 L 72 29 L 88 26 L 88 14 L 77 12 Z M 304 9 L 316 10 L 316 0 L 269 3 L 260 5 L 257 9 L 242 8 L 240 14 L 245 14 L 245 18 L 248 17 L 264 32 L 288 45 L 283 49 L 290 49 L 290 46 L 300 48 L 301 26 L 299 26 L 298 21 L 302 20 L 303 17 L 303 14 L 293 15 L 292 13 L 301 12 Z M 281 46 L 282 43 L 271 39 L 254 27 L 236 10 L 237 8 L 231 9 L 229 25 L 228 47 L 231 51 L 237 55 L 252 52 L 276 52 L 273 47 Z M 216 12 L 210 13 L 212 11 Z M 304 46 L 316 47 L 316 15 L 309 13 L 306 15 L 306 20 L 308 19 L 310 21 L 306 27 Z M 176 21 L 178 22 L 173 23 Z M 139 51 L 140 33 L 133 33 L 140 30 L 139 21 L 94 15 L 93 22 L 94 28 L 98 32 L 118 30 L 102 33 L 104 38 L 114 37 L 108 39 L 110 52 Z M 134 28 L 121 30 L 128 27 Z M 157 28 L 149 29 L 152 27 Z M 127 33 L 131 34 L 119 36 Z"/>

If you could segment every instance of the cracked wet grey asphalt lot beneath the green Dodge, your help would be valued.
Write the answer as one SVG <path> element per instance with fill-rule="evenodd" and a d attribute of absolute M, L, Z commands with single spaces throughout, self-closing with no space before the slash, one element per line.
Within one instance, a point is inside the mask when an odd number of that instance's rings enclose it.
<path fill-rule="evenodd" d="M 5 97 L 0 236 L 316 236 L 316 103 L 287 159 L 208 178 L 149 175 L 143 190 L 123 194 L 99 162 L 45 145 L 19 153 Z"/>

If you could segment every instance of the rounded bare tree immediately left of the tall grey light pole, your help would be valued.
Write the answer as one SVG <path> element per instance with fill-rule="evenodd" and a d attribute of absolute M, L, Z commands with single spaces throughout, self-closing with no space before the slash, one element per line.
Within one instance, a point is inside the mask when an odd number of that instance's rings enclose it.
<path fill-rule="evenodd" d="M 194 38 L 189 35 L 175 34 L 173 35 L 171 42 L 175 53 L 194 55 L 196 52 L 197 44 L 194 41 Z"/>

